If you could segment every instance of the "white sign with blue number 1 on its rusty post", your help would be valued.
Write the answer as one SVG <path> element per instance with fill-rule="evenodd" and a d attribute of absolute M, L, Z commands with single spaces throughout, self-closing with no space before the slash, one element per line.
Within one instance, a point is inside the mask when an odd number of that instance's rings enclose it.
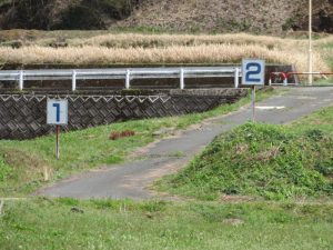
<path fill-rule="evenodd" d="M 48 99 L 48 124 L 56 126 L 56 157 L 60 159 L 60 130 L 68 124 L 68 100 Z"/>

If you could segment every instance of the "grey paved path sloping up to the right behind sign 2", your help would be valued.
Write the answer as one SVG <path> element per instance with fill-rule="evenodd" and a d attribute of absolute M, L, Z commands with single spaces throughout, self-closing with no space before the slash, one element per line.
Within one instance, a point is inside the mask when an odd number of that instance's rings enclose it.
<path fill-rule="evenodd" d="M 258 103 L 256 120 L 274 124 L 286 123 L 330 104 L 333 104 L 333 88 L 292 88 L 287 93 Z M 175 137 L 147 147 L 138 153 L 141 160 L 74 177 L 44 188 L 38 193 L 81 199 L 153 198 L 154 193 L 148 187 L 154 180 L 184 167 L 214 137 L 250 119 L 250 107 L 210 119 L 181 131 Z"/>

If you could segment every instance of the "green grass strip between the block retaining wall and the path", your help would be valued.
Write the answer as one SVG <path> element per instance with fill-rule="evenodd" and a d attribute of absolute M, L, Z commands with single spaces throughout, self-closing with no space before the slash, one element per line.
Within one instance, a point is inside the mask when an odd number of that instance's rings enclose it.
<path fill-rule="evenodd" d="M 261 97 L 276 93 L 268 91 Z M 26 141 L 0 141 L 0 197 L 26 196 L 43 182 L 44 169 L 51 169 L 52 180 L 88 171 L 102 164 L 130 160 L 130 154 L 147 146 L 161 128 L 183 129 L 203 119 L 221 116 L 249 102 L 244 98 L 238 103 L 221 106 L 214 110 L 181 117 L 117 122 L 81 131 L 62 133 L 60 139 L 61 158 L 54 158 L 54 136 Z M 132 130 L 134 137 L 109 140 L 113 131 Z"/>

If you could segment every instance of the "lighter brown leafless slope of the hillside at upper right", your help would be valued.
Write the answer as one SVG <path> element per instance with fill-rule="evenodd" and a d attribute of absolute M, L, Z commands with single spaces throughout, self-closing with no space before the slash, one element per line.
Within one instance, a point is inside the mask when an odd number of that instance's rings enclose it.
<path fill-rule="evenodd" d="M 333 32 L 333 1 L 319 0 L 313 4 L 314 30 Z M 281 33 L 306 29 L 307 17 L 307 0 L 164 0 L 159 3 L 145 1 L 121 26 Z"/>

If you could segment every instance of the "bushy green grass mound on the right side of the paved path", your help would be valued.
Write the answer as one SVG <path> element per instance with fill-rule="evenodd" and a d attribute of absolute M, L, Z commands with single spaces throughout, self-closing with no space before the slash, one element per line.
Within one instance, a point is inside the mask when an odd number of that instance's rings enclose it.
<path fill-rule="evenodd" d="M 221 194 L 274 200 L 332 198 L 332 114 L 333 108 L 329 108 L 289 127 L 239 127 L 218 137 L 188 168 L 159 186 L 204 200 Z"/>

